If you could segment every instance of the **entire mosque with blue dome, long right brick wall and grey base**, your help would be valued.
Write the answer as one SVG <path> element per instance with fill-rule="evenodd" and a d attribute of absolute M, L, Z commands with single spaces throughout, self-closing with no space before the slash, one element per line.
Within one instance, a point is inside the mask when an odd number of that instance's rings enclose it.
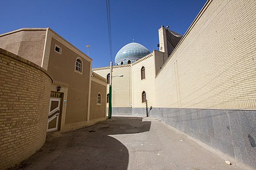
<path fill-rule="evenodd" d="M 208 1 L 184 36 L 161 27 L 158 50 L 125 45 L 113 66 L 113 114 L 157 117 L 256 168 L 254 9 L 251 0 Z M 110 67 L 92 71 L 108 78 Z"/>

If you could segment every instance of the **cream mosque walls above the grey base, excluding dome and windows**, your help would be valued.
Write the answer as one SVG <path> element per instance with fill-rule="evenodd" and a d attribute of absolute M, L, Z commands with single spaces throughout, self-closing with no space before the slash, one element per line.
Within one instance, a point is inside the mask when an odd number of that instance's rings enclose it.
<path fill-rule="evenodd" d="M 131 67 L 114 67 L 113 75 L 125 76 L 113 79 L 113 107 L 127 107 L 129 95 L 133 107 L 145 107 L 141 102 L 145 91 L 148 107 L 256 108 L 256 31 L 255 12 L 251 11 L 255 3 L 208 4 L 168 59 L 154 50 Z M 142 66 L 146 69 L 144 80 Z M 109 67 L 94 71 L 106 77 Z"/>

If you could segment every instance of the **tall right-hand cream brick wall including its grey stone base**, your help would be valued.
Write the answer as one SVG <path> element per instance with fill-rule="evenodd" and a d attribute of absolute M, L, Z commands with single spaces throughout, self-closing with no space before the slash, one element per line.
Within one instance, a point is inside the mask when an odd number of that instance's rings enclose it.
<path fill-rule="evenodd" d="M 254 169 L 255 7 L 208 1 L 156 75 L 150 112 Z"/>

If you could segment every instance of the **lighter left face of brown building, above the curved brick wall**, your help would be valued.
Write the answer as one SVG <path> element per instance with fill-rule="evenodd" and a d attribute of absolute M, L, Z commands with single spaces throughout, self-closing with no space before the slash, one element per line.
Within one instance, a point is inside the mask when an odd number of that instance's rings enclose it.
<path fill-rule="evenodd" d="M 46 29 L 19 29 L 0 35 L 0 48 L 41 66 Z"/>

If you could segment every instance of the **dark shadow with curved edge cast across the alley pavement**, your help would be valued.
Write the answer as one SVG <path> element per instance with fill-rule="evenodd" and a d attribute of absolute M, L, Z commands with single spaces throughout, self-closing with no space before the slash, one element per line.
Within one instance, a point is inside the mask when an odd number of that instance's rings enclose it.
<path fill-rule="evenodd" d="M 50 133 L 41 150 L 16 169 L 127 169 L 127 148 L 109 135 L 142 133 L 150 125 L 141 117 L 113 117 L 67 133 Z"/>

